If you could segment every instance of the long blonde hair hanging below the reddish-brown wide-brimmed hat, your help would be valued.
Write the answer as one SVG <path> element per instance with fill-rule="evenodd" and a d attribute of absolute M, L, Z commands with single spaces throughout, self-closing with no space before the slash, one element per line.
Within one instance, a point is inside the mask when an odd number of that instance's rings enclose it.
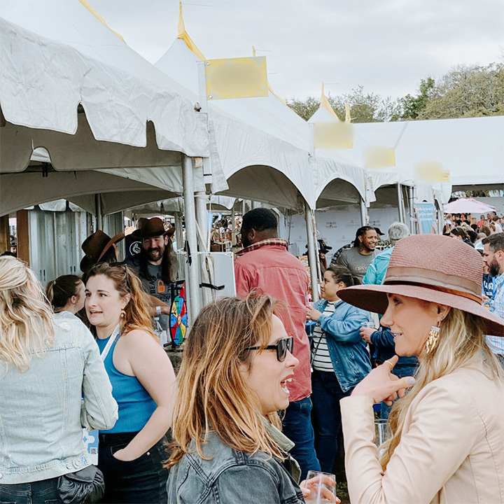
<path fill-rule="evenodd" d="M 388 424 L 393 437 L 383 446 L 384 453 L 380 459 L 383 470 L 386 469 L 393 451 L 400 443 L 402 426 L 409 406 L 423 387 L 431 381 L 454 372 L 478 355 L 482 356 L 496 379 L 504 380 L 502 367 L 485 342 L 484 327 L 482 318 L 451 308 L 447 318 L 440 325 L 437 345 L 421 360 L 416 373 L 416 383 L 404 398 L 395 402 L 388 416 Z"/>

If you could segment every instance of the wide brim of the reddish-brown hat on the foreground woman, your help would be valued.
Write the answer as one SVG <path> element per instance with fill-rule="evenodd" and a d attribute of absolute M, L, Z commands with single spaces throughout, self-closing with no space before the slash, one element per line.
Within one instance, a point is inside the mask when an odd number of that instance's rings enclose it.
<path fill-rule="evenodd" d="M 407 284 L 360 285 L 346 287 L 338 291 L 338 297 L 344 302 L 367 311 L 384 314 L 388 306 L 387 294 L 398 294 L 414 297 L 419 300 L 444 304 L 452 308 L 467 311 L 484 319 L 486 334 L 504 337 L 504 318 L 489 311 L 488 308 L 474 300 L 461 295 L 442 292 L 429 287 Z"/>

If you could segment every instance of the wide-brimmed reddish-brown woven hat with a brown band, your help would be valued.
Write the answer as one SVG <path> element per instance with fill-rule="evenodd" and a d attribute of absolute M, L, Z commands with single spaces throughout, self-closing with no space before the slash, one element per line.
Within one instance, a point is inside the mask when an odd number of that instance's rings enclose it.
<path fill-rule="evenodd" d="M 398 294 L 444 304 L 477 315 L 486 334 L 504 336 L 504 318 L 482 305 L 483 260 L 471 246 L 440 235 L 402 238 L 393 248 L 382 285 L 339 290 L 345 302 L 384 314 L 386 295 Z"/>

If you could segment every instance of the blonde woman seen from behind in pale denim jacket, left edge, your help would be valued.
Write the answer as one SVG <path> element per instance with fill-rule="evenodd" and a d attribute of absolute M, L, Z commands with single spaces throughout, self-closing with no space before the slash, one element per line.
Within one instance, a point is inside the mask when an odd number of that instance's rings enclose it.
<path fill-rule="evenodd" d="M 90 331 L 56 318 L 34 272 L 8 256 L 0 258 L 0 391 L 0 502 L 59 503 L 59 477 L 91 466 L 83 426 L 112 428 L 118 407 Z M 103 493 L 98 482 L 97 490 L 87 502 Z"/>

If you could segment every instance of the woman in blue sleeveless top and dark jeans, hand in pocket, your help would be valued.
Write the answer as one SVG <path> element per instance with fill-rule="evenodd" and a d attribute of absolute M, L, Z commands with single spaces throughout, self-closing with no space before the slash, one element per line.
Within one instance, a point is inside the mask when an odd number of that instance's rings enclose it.
<path fill-rule="evenodd" d="M 126 265 L 109 264 L 90 270 L 85 295 L 87 319 L 119 405 L 116 425 L 99 433 L 98 467 L 106 486 L 102 502 L 166 503 L 162 461 L 175 374 L 153 333 L 147 295 Z"/>

